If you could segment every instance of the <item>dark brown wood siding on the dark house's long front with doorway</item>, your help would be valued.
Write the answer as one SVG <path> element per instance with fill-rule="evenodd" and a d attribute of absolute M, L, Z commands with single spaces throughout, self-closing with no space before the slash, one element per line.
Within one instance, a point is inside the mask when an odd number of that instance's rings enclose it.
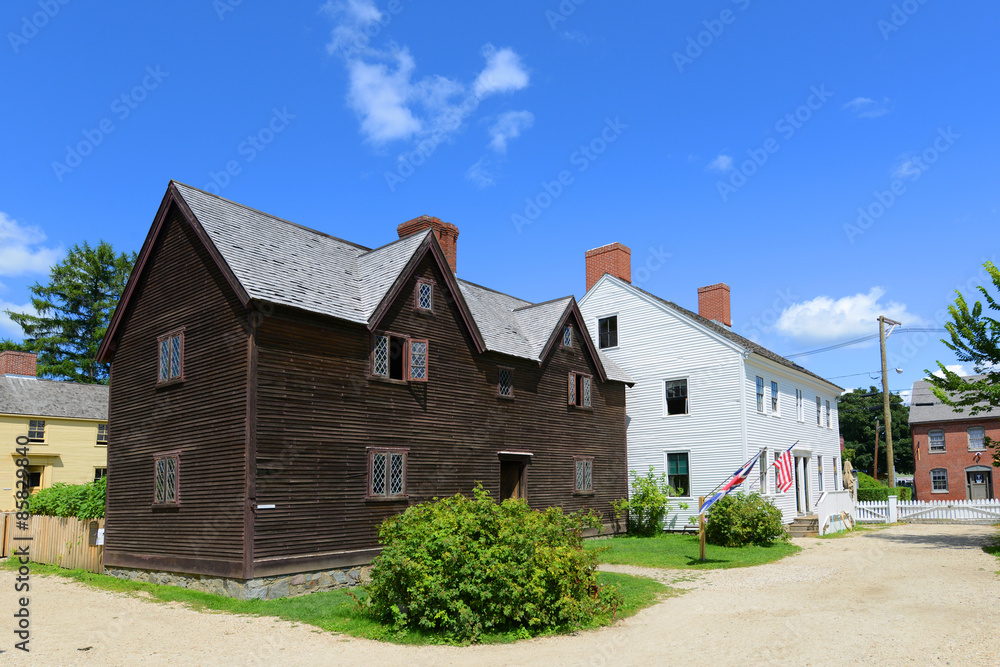
<path fill-rule="evenodd" d="M 416 277 L 435 281 L 433 314 L 413 308 Z M 429 340 L 426 383 L 369 379 L 370 335 L 350 325 L 279 309 L 258 337 L 255 575 L 357 560 L 376 546 L 379 522 L 481 481 L 499 495 L 502 450 L 534 454 L 527 472 L 533 507 L 593 508 L 607 518 L 627 493 L 625 392 L 600 383 L 576 328 L 542 368 L 479 355 L 445 298 L 428 258 L 380 329 Z M 497 364 L 514 368 L 513 401 L 497 397 Z M 567 406 L 570 371 L 595 375 L 593 410 Z M 370 446 L 408 447 L 405 501 L 365 499 Z M 574 455 L 594 457 L 594 494 L 574 495 Z M 289 560 L 293 559 L 293 560 Z"/>

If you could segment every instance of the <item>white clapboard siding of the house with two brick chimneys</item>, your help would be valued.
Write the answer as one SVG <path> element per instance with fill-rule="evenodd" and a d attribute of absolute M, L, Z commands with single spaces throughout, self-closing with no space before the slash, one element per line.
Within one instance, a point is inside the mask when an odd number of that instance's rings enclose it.
<path fill-rule="evenodd" d="M 752 354 L 745 359 L 733 342 L 608 277 L 581 300 L 580 310 L 595 344 L 598 319 L 618 315 L 619 346 L 604 353 L 636 380 L 635 386 L 627 389 L 629 469 L 644 474 L 652 466 L 659 474 L 665 471 L 666 452 L 689 452 L 691 497 L 678 502 L 688 502 L 690 507 L 685 511 L 675 503 L 667 518 L 668 528 L 688 525 L 689 518 L 696 515 L 698 496 L 725 481 L 761 447 L 773 449 L 783 444 L 787 448 L 796 439 L 814 443 L 814 454 L 827 457 L 824 470 L 830 484 L 827 466 L 831 464 L 827 462 L 839 456 L 836 397 L 829 393 L 823 396 L 831 400 L 834 428 L 819 429 L 815 426 L 815 395 L 831 388 Z M 805 424 L 798 424 L 792 414 L 781 418 L 757 414 L 754 382 L 758 374 L 768 383 L 772 378 L 779 380 L 781 391 L 790 394 L 784 397 L 787 405 L 794 406 L 795 386 L 806 390 Z M 666 416 L 664 382 L 682 378 L 688 380 L 689 414 Z M 769 384 L 765 386 L 769 391 Z M 808 428 L 809 415 L 812 429 Z M 810 477 L 815 499 L 819 495 L 815 459 Z M 756 485 L 753 488 L 756 490 Z M 778 495 L 776 503 L 786 520 L 791 520 L 794 492 Z"/>

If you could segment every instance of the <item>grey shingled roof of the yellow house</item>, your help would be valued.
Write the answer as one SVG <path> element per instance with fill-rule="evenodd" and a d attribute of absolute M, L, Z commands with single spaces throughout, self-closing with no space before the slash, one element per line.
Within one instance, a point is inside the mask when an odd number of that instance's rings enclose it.
<path fill-rule="evenodd" d="M 0 375 L 0 414 L 108 418 L 108 386 Z"/>

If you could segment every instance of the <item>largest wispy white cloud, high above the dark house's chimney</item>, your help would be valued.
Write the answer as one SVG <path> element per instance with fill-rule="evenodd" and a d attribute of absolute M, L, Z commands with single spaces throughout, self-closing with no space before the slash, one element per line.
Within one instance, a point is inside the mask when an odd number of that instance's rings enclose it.
<path fill-rule="evenodd" d="M 327 51 L 347 68 L 348 104 L 361 133 L 377 146 L 428 137 L 441 143 L 462 128 L 482 99 L 529 83 L 520 56 L 492 44 L 483 47 L 486 64 L 470 84 L 441 75 L 416 79 L 416 60 L 405 45 L 374 45 L 392 17 L 372 0 L 328 2 L 323 10 L 335 21 Z"/>

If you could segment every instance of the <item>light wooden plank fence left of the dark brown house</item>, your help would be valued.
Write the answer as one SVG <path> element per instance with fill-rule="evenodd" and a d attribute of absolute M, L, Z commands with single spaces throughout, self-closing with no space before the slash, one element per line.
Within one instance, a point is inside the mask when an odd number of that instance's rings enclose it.
<path fill-rule="evenodd" d="M 75 518 L 32 516 L 27 530 L 19 527 L 13 512 L 4 513 L 3 546 L 0 555 L 12 556 L 18 547 L 28 545 L 33 563 L 58 565 L 71 569 L 104 571 L 104 547 L 94 544 L 104 519 L 81 521 Z M 31 539 L 15 539 L 26 538 Z"/>

